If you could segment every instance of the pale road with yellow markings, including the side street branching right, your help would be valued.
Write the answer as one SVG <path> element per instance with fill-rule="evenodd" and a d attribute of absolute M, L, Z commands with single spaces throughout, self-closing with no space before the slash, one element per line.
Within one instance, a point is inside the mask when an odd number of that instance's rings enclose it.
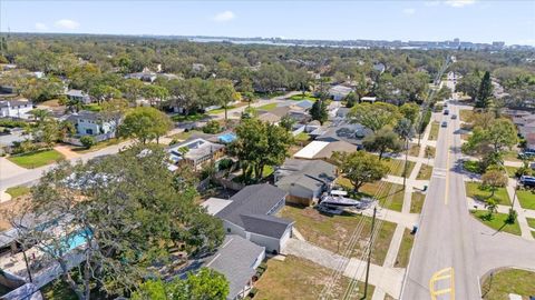
<path fill-rule="evenodd" d="M 459 114 L 459 106 L 448 107 L 450 114 Z M 480 299 L 479 279 L 489 271 L 535 269 L 535 242 L 496 232 L 469 214 L 468 204 L 473 202 L 466 198 L 461 140 L 456 134 L 460 121 L 442 114 L 435 118 L 447 120 L 448 127 L 440 128 L 435 169 L 401 299 Z"/>

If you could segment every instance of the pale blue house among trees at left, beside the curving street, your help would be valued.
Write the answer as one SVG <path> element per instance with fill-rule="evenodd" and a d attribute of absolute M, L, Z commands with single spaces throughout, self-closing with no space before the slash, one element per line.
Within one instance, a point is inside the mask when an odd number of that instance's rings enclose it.
<path fill-rule="evenodd" d="M 93 136 L 97 141 L 115 138 L 115 131 L 118 127 L 117 121 L 103 113 L 81 110 L 67 118 L 76 128 L 76 136 Z"/>

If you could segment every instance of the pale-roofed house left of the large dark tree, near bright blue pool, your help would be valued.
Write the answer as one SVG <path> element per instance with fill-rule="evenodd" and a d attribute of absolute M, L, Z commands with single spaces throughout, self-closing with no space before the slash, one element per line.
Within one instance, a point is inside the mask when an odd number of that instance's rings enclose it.
<path fill-rule="evenodd" d="M 225 146 L 214 143 L 202 138 L 188 140 L 169 148 L 171 160 L 178 163 L 187 163 L 194 170 L 201 168 L 208 161 L 216 161 L 220 159 L 225 150 Z"/>

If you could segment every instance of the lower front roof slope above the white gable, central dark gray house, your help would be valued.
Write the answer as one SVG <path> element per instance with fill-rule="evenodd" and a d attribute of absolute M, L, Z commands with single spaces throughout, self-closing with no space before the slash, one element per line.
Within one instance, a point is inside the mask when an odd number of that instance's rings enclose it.
<path fill-rule="evenodd" d="M 262 236 L 280 239 L 293 221 L 266 214 L 242 214 L 245 230 Z"/>

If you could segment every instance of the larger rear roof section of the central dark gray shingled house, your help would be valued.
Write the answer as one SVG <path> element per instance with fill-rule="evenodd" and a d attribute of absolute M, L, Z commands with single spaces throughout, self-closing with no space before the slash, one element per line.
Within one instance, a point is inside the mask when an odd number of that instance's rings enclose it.
<path fill-rule="evenodd" d="M 288 193 L 271 184 L 253 184 L 231 197 L 232 203 L 215 216 L 245 228 L 242 216 L 268 214 Z"/>

